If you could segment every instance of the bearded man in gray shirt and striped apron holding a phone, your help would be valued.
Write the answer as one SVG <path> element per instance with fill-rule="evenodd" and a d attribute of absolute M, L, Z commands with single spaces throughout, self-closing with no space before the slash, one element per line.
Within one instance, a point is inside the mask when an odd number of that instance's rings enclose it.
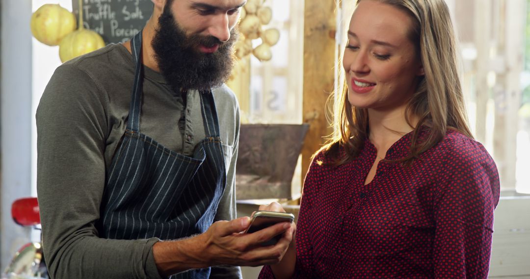
<path fill-rule="evenodd" d="M 64 63 L 41 98 L 52 278 L 239 278 L 238 266 L 279 262 L 293 237 L 294 224 L 242 234 L 249 217 L 235 219 L 239 113 L 223 83 L 245 1 L 152 1 L 143 31 Z"/>

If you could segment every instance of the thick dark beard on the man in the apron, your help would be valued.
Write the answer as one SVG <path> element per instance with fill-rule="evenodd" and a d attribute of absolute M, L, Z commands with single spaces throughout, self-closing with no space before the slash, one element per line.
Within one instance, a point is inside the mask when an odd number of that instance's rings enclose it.
<path fill-rule="evenodd" d="M 232 45 L 237 38 L 234 28 L 230 39 L 221 42 L 214 36 L 193 34 L 187 36 L 165 5 L 158 19 L 158 29 L 152 47 L 162 75 L 175 92 L 197 89 L 209 90 L 222 85 L 230 76 L 234 65 Z M 219 48 L 214 53 L 202 53 L 199 46 Z"/>

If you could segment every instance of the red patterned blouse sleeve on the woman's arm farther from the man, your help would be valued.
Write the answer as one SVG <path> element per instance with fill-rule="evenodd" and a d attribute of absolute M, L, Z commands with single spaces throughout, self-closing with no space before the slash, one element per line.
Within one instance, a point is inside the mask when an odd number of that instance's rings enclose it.
<path fill-rule="evenodd" d="M 479 143 L 449 148 L 434 196 L 435 277 L 487 278 L 500 191 L 497 167 Z"/>

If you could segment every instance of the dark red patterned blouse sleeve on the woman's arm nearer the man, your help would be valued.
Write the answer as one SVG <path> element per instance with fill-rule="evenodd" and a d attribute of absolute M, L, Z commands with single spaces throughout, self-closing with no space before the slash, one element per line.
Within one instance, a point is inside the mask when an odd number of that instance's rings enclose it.
<path fill-rule="evenodd" d="M 318 169 L 321 168 L 322 153 L 315 156 L 305 176 L 304 189 L 300 204 L 300 212 L 296 222 L 296 265 L 293 278 L 312 278 L 313 271 L 313 246 L 311 243 L 311 227 L 313 225 L 313 200 L 315 199 Z M 259 279 L 274 279 L 272 269 L 269 265 L 263 266 Z"/>

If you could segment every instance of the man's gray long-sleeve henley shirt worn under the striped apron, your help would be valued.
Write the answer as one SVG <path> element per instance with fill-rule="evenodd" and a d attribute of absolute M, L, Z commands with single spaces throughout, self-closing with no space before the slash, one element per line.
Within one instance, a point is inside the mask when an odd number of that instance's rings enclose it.
<path fill-rule="evenodd" d="M 40 100 L 37 191 L 53 278 L 160 278 L 152 253 L 158 239 L 103 239 L 94 227 L 112 156 L 127 125 L 134 71 L 127 49 L 109 45 L 58 67 Z M 140 131 L 175 152 L 192 154 L 205 137 L 198 92 L 188 92 L 184 107 L 160 73 L 144 67 L 144 75 Z M 226 86 L 213 92 L 227 170 L 215 220 L 231 220 L 236 217 L 238 105 Z M 181 125 L 180 119 L 185 119 Z M 213 267 L 211 277 L 238 278 L 241 272 Z"/>

